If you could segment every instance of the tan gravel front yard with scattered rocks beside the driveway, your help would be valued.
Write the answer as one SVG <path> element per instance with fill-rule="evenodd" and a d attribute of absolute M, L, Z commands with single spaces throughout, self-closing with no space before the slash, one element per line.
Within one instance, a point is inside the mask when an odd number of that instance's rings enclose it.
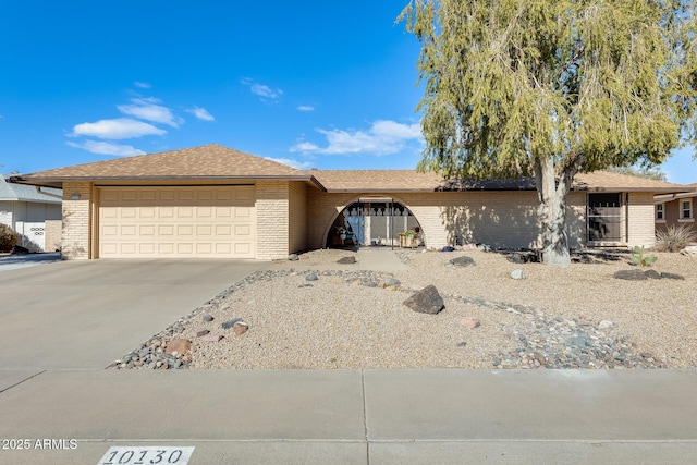
<path fill-rule="evenodd" d="M 478 249 L 382 253 L 396 254 L 407 270 L 337 264 L 360 260 L 350 250 L 272 262 L 111 367 L 697 367 L 696 258 L 657 253 L 643 269 L 652 270 L 648 278 L 634 281 L 614 278 L 639 269 L 619 250 L 575 254 L 567 268 Z M 442 311 L 403 305 L 429 284 L 443 297 Z M 191 348 L 168 354 L 175 339 Z"/>

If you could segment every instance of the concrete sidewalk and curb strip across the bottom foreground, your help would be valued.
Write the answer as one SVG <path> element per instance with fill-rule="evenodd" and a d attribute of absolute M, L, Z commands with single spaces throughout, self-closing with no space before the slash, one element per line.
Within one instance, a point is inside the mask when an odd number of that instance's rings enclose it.
<path fill-rule="evenodd" d="M 179 445 L 189 464 L 684 464 L 696 397 L 686 370 L 49 370 L 0 393 L 0 438 L 76 449 L 0 463 Z"/>

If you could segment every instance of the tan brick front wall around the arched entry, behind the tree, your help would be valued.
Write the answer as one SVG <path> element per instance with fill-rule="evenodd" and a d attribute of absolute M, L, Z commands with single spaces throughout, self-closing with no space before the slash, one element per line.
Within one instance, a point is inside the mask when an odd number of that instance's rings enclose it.
<path fill-rule="evenodd" d="M 309 191 L 308 247 L 323 247 L 334 218 L 362 194 L 327 194 Z M 375 196 L 375 195 L 372 195 Z M 394 193 L 393 197 L 416 217 L 429 248 L 464 242 L 493 247 L 539 247 L 538 198 L 535 192 Z M 570 193 L 567 199 L 570 245 L 585 242 L 585 193 Z"/>

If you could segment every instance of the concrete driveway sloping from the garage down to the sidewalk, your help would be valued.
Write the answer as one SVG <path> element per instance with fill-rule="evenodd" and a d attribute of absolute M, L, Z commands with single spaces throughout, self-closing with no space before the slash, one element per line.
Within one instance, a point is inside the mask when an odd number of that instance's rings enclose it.
<path fill-rule="evenodd" d="M 0 390 L 7 370 L 103 368 L 266 265 L 89 260 L 2 271 Z"/>

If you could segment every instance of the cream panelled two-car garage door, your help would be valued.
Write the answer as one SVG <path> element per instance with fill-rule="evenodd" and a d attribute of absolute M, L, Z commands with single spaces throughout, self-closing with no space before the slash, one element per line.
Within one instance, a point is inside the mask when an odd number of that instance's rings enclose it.
<path fill-rule="evenodd" d="M 254 258 L 254 186 L 101 187 L 99 257 Z"/>

